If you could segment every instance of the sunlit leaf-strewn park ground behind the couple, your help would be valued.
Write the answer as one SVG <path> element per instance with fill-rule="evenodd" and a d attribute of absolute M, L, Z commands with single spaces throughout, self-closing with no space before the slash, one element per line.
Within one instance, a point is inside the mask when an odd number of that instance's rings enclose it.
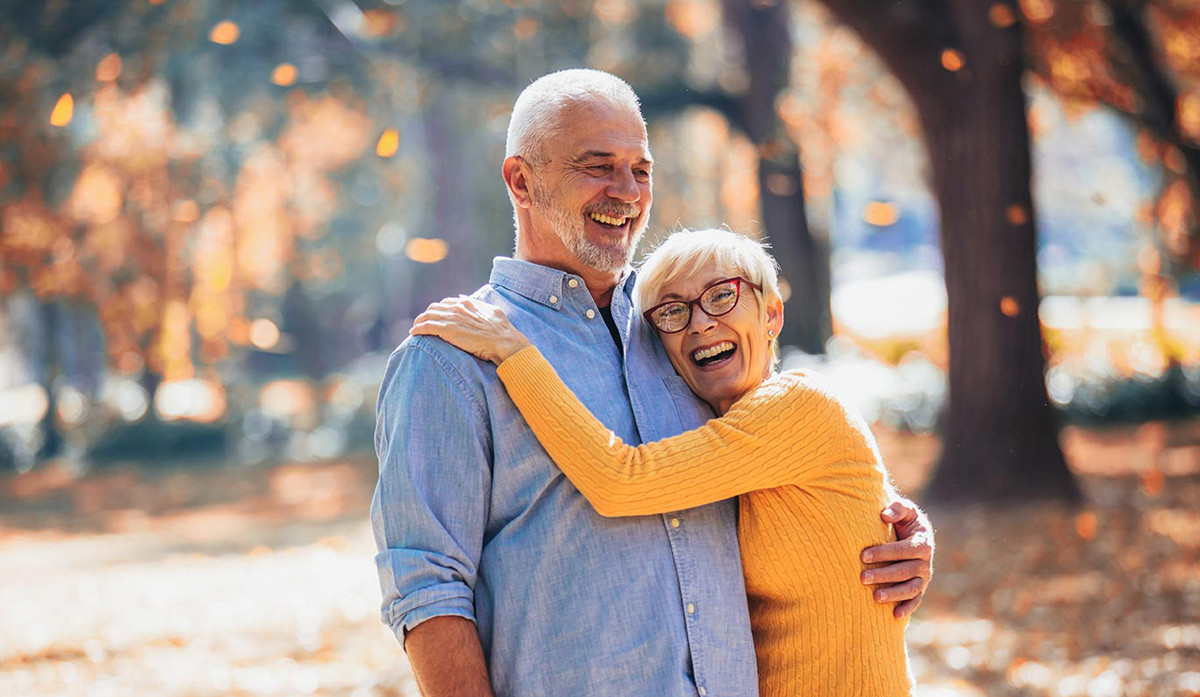
<path fill-rule="evenodd" d="M 918 697 L 1200 695 L 1198 423 L 1068 431 L 1087 504 L 931 510 Z M 917 491 L 932 437 L 877 431 Z M 0 695 L 418 695 L 370 457 L 0 477 Z"/>

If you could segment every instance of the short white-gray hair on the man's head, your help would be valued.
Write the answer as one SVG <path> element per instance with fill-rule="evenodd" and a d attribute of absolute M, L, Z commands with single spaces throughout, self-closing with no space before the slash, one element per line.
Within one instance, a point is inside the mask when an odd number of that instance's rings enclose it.
<path fill-rule="evenodd" d="M 560 127 L 563 109 L 601 98 L 642 115 L 637 95 L 614 74 L 590 68 L 553 72 L 534 80 L 512 104 L 504 156 L 520 155 L 534 164 L 545 158 L 546 140 Z"/>

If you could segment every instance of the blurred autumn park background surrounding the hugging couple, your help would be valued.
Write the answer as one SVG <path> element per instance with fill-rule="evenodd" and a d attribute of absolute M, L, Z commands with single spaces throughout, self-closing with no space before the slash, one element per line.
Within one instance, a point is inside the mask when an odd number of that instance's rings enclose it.
<path fill-rule="evenodd" d="M 378 381 L 577 66 L 930 510 L 917 693 L 1200 695 L 1193 0 L 4 4 L 0 693 L 418 693 Z"/>

